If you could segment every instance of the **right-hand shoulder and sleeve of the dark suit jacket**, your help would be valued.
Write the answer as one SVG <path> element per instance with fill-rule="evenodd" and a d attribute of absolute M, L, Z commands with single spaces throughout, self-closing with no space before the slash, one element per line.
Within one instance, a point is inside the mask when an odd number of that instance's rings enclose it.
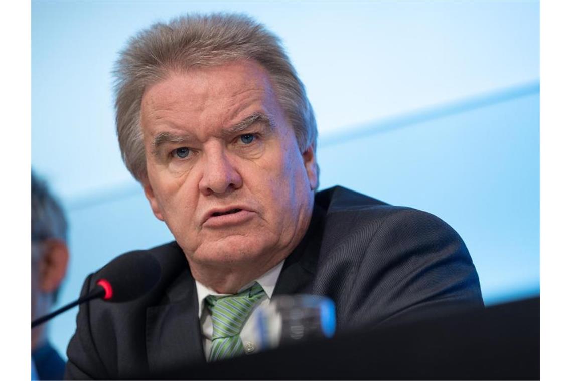
<path fill-rule="evenodd" d="M 340 328 L 444 311 L 449 302 L 482 306 L 467 247 L 438 216 L 341 187 L 320 197 L 327 212 L 316 292 L 336 301 Z"/>

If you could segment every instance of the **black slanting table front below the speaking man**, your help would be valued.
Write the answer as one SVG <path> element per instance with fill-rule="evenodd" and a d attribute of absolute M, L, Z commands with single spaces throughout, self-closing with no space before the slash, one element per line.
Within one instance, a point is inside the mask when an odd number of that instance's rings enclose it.
<path fill-rule="evenodd" d="M 296 343 L 183 378 L 539 379 L 540 298 Z"/>

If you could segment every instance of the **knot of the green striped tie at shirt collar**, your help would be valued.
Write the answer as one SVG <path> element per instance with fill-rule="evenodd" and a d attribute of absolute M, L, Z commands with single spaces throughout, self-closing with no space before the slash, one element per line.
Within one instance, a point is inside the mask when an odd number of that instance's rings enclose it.
<path fill-rule="evenodd" d="M 206 297 L 213 322 L 213 340 L 240 334 L 256 302 L 264 296 L 259 283 L 236 295 Z"/>

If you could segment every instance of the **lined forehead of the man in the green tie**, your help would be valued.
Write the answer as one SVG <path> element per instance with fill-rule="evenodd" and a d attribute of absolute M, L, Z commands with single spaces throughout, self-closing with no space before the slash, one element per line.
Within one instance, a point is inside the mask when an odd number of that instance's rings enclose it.
<path fill-rule="evenodd" d="M 227 123 L 253 107 L 272 114 L 279 108 L 271 80 L 258 63 L 236 61 L 169 73 L 145 90 L 141 117 L 144 125 L 168 119 Z"/>

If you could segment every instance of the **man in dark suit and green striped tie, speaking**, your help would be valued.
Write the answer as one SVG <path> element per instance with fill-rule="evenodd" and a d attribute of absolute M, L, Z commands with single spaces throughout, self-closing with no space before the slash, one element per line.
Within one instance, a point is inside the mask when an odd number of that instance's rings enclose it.
<path fill-rule="evenodd" d="M 482 306 L 442 220 L 342 187 L 316 192 L 316 123 L 279 40 L 243 15 L 191 15 L 130 40 L 116 69 L 126 166 L 176 242 L 133 302 L 80 308 L 69 378 L 178 378 L 256 352 L 253 310 L 327 295 L 338 331 Z M 86 279 L 82 294 L 97 278 Z"/>

